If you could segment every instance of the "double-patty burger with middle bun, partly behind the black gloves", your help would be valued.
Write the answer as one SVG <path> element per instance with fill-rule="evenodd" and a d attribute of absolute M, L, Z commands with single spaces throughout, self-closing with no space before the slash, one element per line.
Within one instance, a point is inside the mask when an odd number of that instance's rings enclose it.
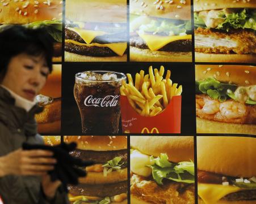
<path fill-rule="evenodd" d="M 127 204 L 126 136 L 65 136 L 64 142 L 77 142 L 73 157 L 94 162 L 78 185 L 68 186 L 70 203 Z"/>

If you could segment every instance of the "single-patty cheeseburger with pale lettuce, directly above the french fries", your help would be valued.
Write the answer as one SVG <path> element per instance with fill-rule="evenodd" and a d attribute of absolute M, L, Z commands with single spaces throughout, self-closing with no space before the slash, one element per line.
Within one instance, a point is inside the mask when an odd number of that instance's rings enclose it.
<path fill-rule="evenodd" d="M 191 5 L 185 1 L 130 1 L 130 59 L 191 62 Z"/>

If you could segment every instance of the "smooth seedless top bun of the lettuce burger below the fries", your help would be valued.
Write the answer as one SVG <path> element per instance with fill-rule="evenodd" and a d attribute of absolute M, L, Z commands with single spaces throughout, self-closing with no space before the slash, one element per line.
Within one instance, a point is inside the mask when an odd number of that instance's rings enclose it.
<path fill-rule="evenodd" d="M 154 157 L 166 153 L 170 162 L 194 161 L 192 136 L 131 136 L 130 143 L 133 149 Z"/>

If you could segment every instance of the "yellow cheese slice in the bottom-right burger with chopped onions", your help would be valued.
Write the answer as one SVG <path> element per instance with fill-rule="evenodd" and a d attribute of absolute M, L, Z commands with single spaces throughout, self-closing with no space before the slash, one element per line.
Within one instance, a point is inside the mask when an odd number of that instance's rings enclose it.
<path fill-rule="evenodd" d="M 220 184 L 200 184 L 198 183 L 198 195 L 205 204 L 215 204 L 229 193 L 243 190 L 237 186 Z"/>

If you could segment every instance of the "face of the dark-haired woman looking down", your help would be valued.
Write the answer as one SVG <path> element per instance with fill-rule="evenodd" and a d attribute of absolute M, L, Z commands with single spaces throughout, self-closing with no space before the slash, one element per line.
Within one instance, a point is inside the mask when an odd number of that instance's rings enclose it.
<path fill-rule="evenodd" d="M 2 85 L 33 101 L 43 88 L 48 74 L 49 68 L 43 57 L 23 53 L 11 58 Z"/>

